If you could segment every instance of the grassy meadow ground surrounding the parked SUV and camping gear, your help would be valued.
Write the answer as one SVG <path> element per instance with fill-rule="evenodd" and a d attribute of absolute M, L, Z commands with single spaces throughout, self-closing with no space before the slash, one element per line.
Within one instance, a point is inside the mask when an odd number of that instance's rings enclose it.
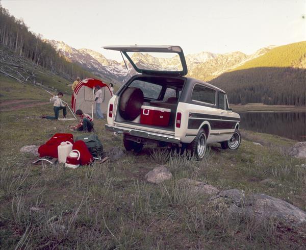
<path fill-rule="evenodd" d="M 44 101 L 43 90 L 0 78 L 8 99 Z M 53 80 L 52 80 L 53 81 Z M 5 91 L 4 91 L 5 90 Z M 208 197 L 178 185 L 181 178 L 203 181 L 219 190 L 238 188 L 246 195 L 266 193 L 306 210 L 304 160 L 285 154 L 295 141 L 242 132 L 237 151 L 213 145 L 201 162 L 147 146 L 112 162 L 77 169 L 33 165 L 24 145 L 40 145 L 55 133 L 67 133 L 73 121 L 39 119 L 52 105 L 14 107 L 1 112 L 0 238 L 3 249 L 302 249 L 305 227 L 282 221 L 258 222 L 223 213 Z M 69 115 L 69 113 L 68 113 Z M 106 152 L 123 147 L 122 136 L 95 120 L 95 133 Z M 82 134 L 73 132 L 73 136 Z M 254 145 L 253 142 L 263 146 Z M 155 185 L 145 174 L 163 164 L 173 178 Z"/>

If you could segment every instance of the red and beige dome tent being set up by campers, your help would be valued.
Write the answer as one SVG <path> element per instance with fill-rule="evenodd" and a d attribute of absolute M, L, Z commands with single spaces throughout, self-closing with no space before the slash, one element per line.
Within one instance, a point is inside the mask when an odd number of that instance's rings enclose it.
<path fill-rule="evenodd" d="M 100 104 L 101 111 L 103 113 L 107 113 L 108 103 L 112 97 L 111 90 L 105 83 L 92 78 L 82 80 L 80 83 L 78 83 L 77 87 L 75 87 L 71 97 L 71 107 L 74 112 L 81 109 L 84 113 L 91 114 L 92 100 L 94 99 L 94 87 L 97 85 L 101 87 L 103 93 L 102 103 Z"/>

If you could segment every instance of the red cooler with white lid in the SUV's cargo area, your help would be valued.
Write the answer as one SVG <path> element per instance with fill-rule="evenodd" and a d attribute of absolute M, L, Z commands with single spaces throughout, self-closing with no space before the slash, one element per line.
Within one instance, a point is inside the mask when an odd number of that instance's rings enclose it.
<path fill-rule="evenodd" d="M 170 109 L 141 106 L 140 123 L 167 127 L 169 125 L 170 113 Z"/>

